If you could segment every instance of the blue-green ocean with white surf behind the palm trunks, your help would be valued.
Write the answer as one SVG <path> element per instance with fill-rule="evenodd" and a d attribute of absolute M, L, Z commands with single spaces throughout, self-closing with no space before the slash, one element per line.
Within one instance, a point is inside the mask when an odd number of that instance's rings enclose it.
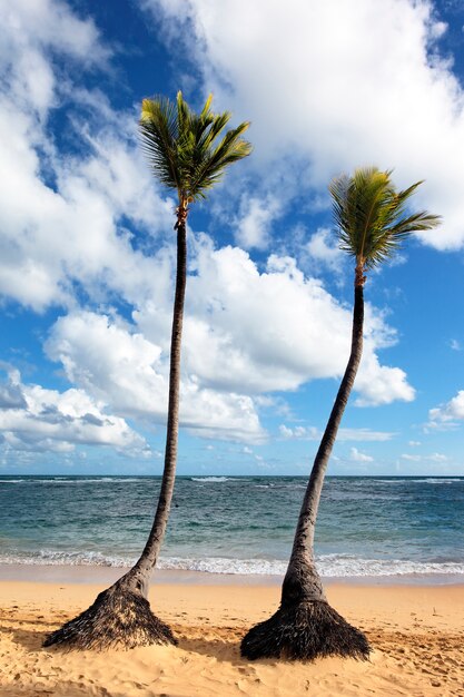
<path fill-rule="evenodd" d="M 178 477 L 159 567 L 283 575 L 306 478 Z M 0 477 L 0 565 L 130 566 L 157 477 Z M 464 582 L 464 478 L 328 477 L 316 560 L 328 578 Z"/>

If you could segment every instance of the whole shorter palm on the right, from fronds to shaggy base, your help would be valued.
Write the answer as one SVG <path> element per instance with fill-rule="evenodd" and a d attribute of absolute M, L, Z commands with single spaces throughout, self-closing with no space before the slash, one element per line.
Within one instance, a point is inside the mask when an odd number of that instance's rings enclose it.
<path fill-rule="evenodd" d="M 327 602 L 314 561 L 314 533 L 324 475 L 363 351 L 365 273 L 391 257 L 411 233 L 431 229 L 440 219 L 424 212 L 406 215 L 408 200 L 421 181 L 396 192 L 391 174 L 375 167 L 362 168 L 329 185 L 340 247 L 355 259 L 352 350 L 314 460 L 280 607 L 268 620 L 253 627 L 241 641 L 241 655 L 250 659 L 314 660 L 329 655 L 365 659 L 371 651 L 364 634 Z"/>

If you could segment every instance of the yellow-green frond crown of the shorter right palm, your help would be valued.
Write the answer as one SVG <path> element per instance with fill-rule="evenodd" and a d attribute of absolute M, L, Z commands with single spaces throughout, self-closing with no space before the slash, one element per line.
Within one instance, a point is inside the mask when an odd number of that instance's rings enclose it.
<path fill-rule="evenodd" d="M 431 229 L 441 219 L 426 212 L 406 215 L 409 198 L 422 181 L 396 192 L 391 174 L 363 167 L 329 185 L 340 248 L 356 258 L 358 284 L 364 283 L 363 272 L 391 257 L 407 235 Z"/>

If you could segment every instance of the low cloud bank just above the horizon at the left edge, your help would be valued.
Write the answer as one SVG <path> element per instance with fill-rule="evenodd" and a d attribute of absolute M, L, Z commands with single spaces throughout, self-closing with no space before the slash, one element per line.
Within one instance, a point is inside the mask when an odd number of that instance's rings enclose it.
<path fill-rule="evenodd" d="M 129 455 L 149 454 L 145 440 L 124 419 L 107 414 L 105 405 L 85 391 L 23 384 L 11 369 L 0 383 L 0 434 L 2 446 L 14 451 L 70 452 L 76 445 L 107 445 Z"/>

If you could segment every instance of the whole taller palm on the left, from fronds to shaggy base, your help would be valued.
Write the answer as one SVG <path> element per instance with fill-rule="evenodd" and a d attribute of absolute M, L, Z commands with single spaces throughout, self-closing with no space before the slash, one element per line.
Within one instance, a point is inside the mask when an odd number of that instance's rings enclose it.
<path fill-rule="evenodd" d="M 45 646 L 72 648 L 126 648 L 148 644 L 176 644 L 170 628 L 150 610 L 148 588 L 157 562 L 172 499 L 179 429 L 180 346 L 187 281 L 186 225 L 189 206 L 206 193 L 228 165 L 251 151 L 241 135 L 249 122 L 223 132 L 230 114 L 215 115 L 208 97 L 195 114 L 177 94 L 177 102 L 164 97 L 144 99 L 140 119 L 142 146 L 154 175 L 178 196 L 176 209 L 177 274 L 170 345 L 169 401 L 165 467 L 155 520 L 137 563 L 113 586 L 101 592 L 79 617 L 49 635 Z M 219 138 L 220 137 L 220 138 Z"/>

